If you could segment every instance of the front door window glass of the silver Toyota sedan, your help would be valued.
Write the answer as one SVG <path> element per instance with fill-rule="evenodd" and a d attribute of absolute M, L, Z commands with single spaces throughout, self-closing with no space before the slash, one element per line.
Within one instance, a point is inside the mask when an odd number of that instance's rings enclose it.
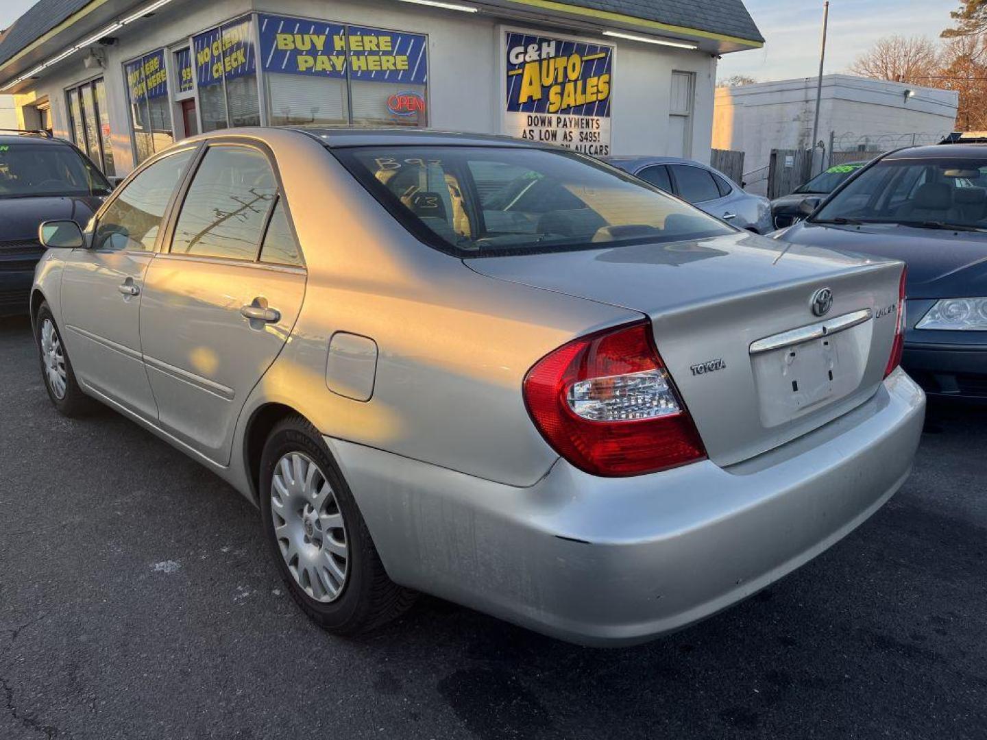
<path fill-rule="evenodd" d="M 93 237 L 94 248 L 153 251 L 168 201 L 193 154 L 193 149 L 171 154 L 127 183 L 100 217 Z"/>

